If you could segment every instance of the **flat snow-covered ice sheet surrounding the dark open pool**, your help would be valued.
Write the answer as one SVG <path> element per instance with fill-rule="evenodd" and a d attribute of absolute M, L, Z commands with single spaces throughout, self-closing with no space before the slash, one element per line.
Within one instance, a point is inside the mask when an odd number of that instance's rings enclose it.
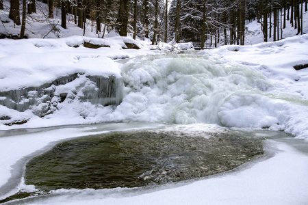
<path fill-rule="evenodd" d="M 139 125 L 139 123 L 129 124 L 130 127 L 121 129 L 134 129 L 138 128 Z M 60 129 L 43 133 L 34 132 L 18 136 L 0 137 L 1 156 L 10 156 L 0 159 L 0 163 L 3 165 L 1 166 L 1 173 L 5 176 L 5 172 L 8 172 L 11 166 L 19 166 L 18 169 L 20 170 L 21 165 L 23 165 L 24 169 L 25 163 L 31 157 L 46 151 L 55 143 L 72 137 L 104 133 L 108 125 L 98 124 L 94 126 L 97 126 L 97 128 L 90 128 L 90 125 L 84 125 L 81 128 L 64 126 Z M 123 124 L 123 126 L 125 125 Z M 147 128 L 162 126 L 164 125 L 151 124 L 150 126 L 149 124 Z M 112 126 L 109 128 L 112 128 Z M 59 133 L 62 134 L 59 135 Z M 55 139 L 55 136 L 57 136 L 57 139 Z M 11 154 L 14 153 L 14 149 L 10 148 L 10 143 L 18 140 L 20 146 L 23 146 L 29 139 L 35 142 L 33 147 L 29 149 L 19 148 L 20 152 Z M 305 190 L 308 189 L 308 175 L 306 174 L 308 170 L 307 141 L 287 138 L 270 139 L 266 140 L 266 143 L 268 144 L 266 150 L 270 152 L 265 157 L 242 165 L 231 172 L 203 179 L 146 189 L 60 190 L 49 196 L 34 197 L 32 200 L 29 198 L 23 202 L 26 204 L 28 204 L 27 202 L 29 204 L 92 204 L 93 202 L 100 204 L 206 204 L 207 202 L 215 202 L 216 204 L 225 204 L 226 202 L 227 204 L 305 204 L 308 200 L 308 195 L 305 194 Z M 16 143 L 12 143 L 12 145 L 16 145 Z M 274 157 L 271 157 L 272 155 Z M 27 189 L 28 186 L 23 185 L 21 182 L 21 173 L 17 175 L 14 180 L 10 178 L 9 183 L 13 182 L 13 184 L 3 184 L 8 178 L 1 176 L 1 199 L 11 195 L 10 193 L 16 192 L 18 189 Z M 15 189 L 12 190 L 12 187 L 15 187 Z M 9 189 L 12 191 L 5 194 L 5 196 L 3 195 L 5 189 L 6 191 Z M 242 191 L 239 191 L 239 189 Z M 87 195 L 91 195 L 91 200 L 87 198 Z M 192 203 L 190 202 L 191 200 Z M 8 203 L 14 204 L 14 202 Z M 18 204 L 18 201 L 16 203 Z"/>

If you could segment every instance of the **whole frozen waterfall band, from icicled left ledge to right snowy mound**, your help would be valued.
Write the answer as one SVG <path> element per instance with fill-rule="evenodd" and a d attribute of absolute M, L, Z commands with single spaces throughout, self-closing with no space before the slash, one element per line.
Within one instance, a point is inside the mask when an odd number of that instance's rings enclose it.
<path fill-rule="evenodd" d="M 40 87 L 0 92 L 0 105 L 27 111 L 14 118 L 6 110 L 1 122 L 27 122 L 31 111 L 53 124 L 206 123 L 307 135 L 301 128 L 307 124 L 296 122 L 307 118 L 307 102 L 283 97 L 285 90 L 244 66 L 192 53 L 147 55 L 121 65 L 117 77 L 75 73 Z"/>

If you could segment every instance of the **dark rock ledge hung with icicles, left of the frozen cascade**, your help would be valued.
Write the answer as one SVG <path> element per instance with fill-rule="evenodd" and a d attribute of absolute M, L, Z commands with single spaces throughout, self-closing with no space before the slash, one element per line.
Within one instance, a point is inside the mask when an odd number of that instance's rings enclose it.
<path fill-rule="evenodd" d="M 60 77 L 39 87 L 0 92 L 0 105 L 44 117 L 58 109 L 64 100 L 92 102 L 97 105 L 119 105 L 123 98 L 123 82 L 114 76 L 86 76 L 83 73 Z"/>

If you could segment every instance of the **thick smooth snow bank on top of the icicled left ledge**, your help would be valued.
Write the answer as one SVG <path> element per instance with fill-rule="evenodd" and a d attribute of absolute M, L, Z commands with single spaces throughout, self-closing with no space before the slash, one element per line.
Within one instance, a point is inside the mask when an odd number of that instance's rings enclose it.
<path fill-rule="evenodd" d="M 86 49 L 85 42 L 112 48 Z M 112 59 L 133 57 L 128 55 L 129 52 L 121 52 L 122 47 L 126 47 L 125 42 L 144 48 L 134 40 L 121 37 L 108 40 L 81 36 L 59 40 L 0 40 L 0 90 L 39 86 L 74 73 L 119 78 L 120 69 Z"/>

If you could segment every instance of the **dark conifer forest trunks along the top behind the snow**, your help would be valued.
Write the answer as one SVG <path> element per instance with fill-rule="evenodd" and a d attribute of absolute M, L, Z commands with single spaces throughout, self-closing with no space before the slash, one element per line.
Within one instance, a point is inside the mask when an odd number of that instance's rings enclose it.
<path fill-rule="evenodd" d="M 0 9 L 3 10 L 3 1 Z M 287 23 L 303 34 L 303 12 L 307 0 L 42 0 L 48 5 L 43 10 L 45 21 L 57 29 L 55 10 L 61 11 L 61 27 L 66 29 L 68 15 L 81 29 L 87 19 L 96 29 L 99 38 L 105 31 L 115 30 L 120 36 L 131 34 L 133 39 L 150 39 L 157 42 L 198 42 L 201 49 L 205 42 L 244 45 L 245 23 L 257 20 L 264 42 L 282 38 Z M 25 35 L 29 19 L 36 20 L 36 0 L 10 0 L 9 18 L 21 25 L 19 38 Z M 31 17 L 32 16 L 32 17 Z M 37 19 L 38 20 L 38 19 Z M 39 19 L 42 20 L 42 19 Z M 94 26 L 93 26 L 94 25 Z"/>

